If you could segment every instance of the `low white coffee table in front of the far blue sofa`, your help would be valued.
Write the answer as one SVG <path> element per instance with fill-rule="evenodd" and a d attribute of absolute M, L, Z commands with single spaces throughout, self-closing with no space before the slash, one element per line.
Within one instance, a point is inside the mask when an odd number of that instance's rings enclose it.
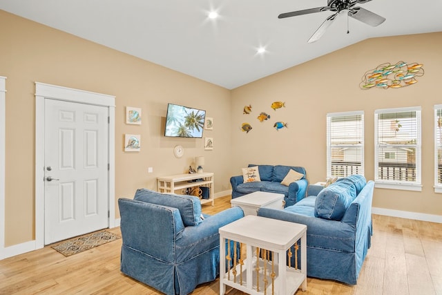
<path fill-rule="evenodd" d="M 255 191 L 247 195 L 234 198 L 230 201 L 231 206 L 239 206 L 244 211 L 244 216 L 256 215 L 261 207 L 284 209 L 284 194 Z"/>

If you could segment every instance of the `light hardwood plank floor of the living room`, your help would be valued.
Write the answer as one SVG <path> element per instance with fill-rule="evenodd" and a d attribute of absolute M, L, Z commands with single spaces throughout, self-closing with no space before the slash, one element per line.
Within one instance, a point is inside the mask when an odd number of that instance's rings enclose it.
<path fill-rule="evenodd" d="M 230 207 L 230 196 L 204 205 L 214 214 Z M 372 247 L 358 285 L 307 279 L 305 294 L 442 294 L 442 224 L 373 216 Z M 111 229 L 121 234 L 119 228 Z M 0 260 L 0 294 L 162 294 L 119 272 L 122 240 L 65 258 L 49 246 Z M 218 294 L 219 281 L 192 294 Z M 243 294 L 231 290 L 230 295 Z"/>

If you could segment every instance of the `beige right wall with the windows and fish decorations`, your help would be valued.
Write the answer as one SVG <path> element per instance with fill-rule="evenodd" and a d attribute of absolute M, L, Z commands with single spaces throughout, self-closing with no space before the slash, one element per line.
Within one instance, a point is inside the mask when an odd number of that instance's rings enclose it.
<path fill-rule="evenodd" d="M 442 104 L 442 32 L 368 39 L 300 66 L 289 68 L 232 91 L 233 168 L 249 162 L 305 166 L 309 182 L 326 176 L 326 114 L 365 112 L 365 176 L 374 179 L 374 111 L 379 108 L 422 107 L 421 192 L 376 189 L 373 206 L 383 209 L 442 215 L 442 194 L 434 193 L 434 104 Z M 296 54 L 296 53 L 295 53 Z M 413 86 L 399 89 L 361 90 L 367 70 L 398 61 L 419 62 L 425 75 Z M 271 102 L 286 107 L 273 111 Z M 243 115 L 244 105 L 253 113 Z M 269 122 L 258 122 L 265 111 Z M 288 122 L 276 131 L 273 122 Z M 253 129 L 240 131 L 242 122 Z"/>

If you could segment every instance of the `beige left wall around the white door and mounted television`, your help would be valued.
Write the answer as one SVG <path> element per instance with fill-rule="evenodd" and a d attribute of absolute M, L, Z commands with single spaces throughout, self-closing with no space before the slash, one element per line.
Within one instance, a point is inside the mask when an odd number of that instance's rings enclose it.
<path fill-rule="evenodd" d="M 35 82 L 116 96 L 115 206 L 135 189 L 156 189 L 160 175 L 184 173 L 195 155 L 215 173 L 215 192 L 228 190 L 231 161 L 230 91 L 42 26 L 0 10 L 0 75 L 6 80 L 6 246 L 35 238 Z M 214 117 L 215 148 L 202 139 L 164 137 L 167 102 L 206 110 Z M 142 108 L 141 126 L 127 125 L 125 106 Z M 140 153 L 124 153 L 124 133 L 140 134 Z M 173 156 L 182 144 L 184 156 Z M 148 173 L 153 167 L 153 173 Z"/>

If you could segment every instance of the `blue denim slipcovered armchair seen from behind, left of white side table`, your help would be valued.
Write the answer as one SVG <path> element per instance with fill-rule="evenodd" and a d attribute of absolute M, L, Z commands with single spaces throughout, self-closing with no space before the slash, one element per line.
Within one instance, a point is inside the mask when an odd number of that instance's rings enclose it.
<path fill-rule="evenodd" d="M 121 271 L 169 295 L 189 294 L 219 274 L 218 229 L 244 216 L 233 207 L 203 216 L 200 199 L 138 189 L 118 200 Z"/>

